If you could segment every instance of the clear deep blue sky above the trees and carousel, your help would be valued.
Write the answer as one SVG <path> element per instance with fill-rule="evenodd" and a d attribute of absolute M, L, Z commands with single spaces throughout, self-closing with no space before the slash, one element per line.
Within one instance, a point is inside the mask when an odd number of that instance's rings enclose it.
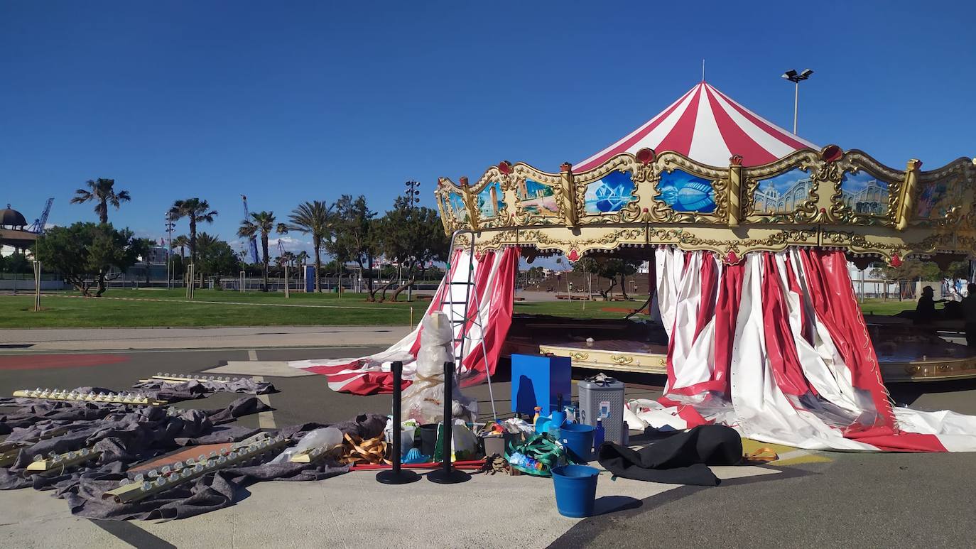
<path fill-rule="evenodd" d="M 799 134 L 893 167 L 976 155 L 967 4 L 928 2 L 0 3 L 0 202 L 94 219 L 73 189 L 113 177 L 116 226 L 162 234 L 175 199 L 240 194 L 285 216 L 502 159 L 557 171 L 701 77 Z M 0 205 L 2 207 L 3 205 Z M 179 227 L 185 232 L 185 223 Z"/>

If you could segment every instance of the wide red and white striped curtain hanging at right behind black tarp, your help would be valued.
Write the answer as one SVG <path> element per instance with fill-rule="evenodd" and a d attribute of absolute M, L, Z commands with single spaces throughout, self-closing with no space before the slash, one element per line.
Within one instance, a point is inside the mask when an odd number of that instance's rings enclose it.
<path fill-rule="evenodd" d="M 660 403 L 688 426 L 812 450 L 976 451 L 976 416 L 893 408 L 842 252 L 656 251 Z"/>

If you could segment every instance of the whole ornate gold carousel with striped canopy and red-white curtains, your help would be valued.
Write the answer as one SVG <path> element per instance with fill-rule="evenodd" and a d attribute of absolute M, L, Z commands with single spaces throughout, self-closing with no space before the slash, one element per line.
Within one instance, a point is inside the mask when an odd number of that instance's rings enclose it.
<path fill-rule="evenodd" d="M 882 379 L 974 376 L 976 356 L 867 323 L 848 274 L 851 261 L 970 257 L 974 190 L 972 159 L 889 168 L 793 136 L 702 82 L 558 172 L 506 161 L 473 183 L 441 178 L 452 255 L 427 312 L 454 329 L 462 387 L 491 389 L 506 352 L 561 355 L 579 368 L 667 375 L 659 399 L 626 405 L 631 429 L 718 423 L 802 449 L 976 451 L 976 416 L 896 407 Z M 650 314 L 513 315 L 519 260 L 557 254 L 649 261 Z M 422 334 L 368 357 L 291 366 L 337 391 L 389 392 L 394 362 L 404 384 L 422 377 Z"/>

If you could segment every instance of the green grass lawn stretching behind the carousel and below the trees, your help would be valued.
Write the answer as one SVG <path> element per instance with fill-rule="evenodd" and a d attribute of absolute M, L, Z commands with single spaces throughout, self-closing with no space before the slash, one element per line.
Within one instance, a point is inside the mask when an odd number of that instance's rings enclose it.
<path fill-rule="evenodd" d="M 183 290 L 110 290 L 105 297 L 79 298 L 75 293 L 45 294 L 42 310 L 33 312 L 33 296 L 0 295 L 0 329 L 17 328 L 138 328 L 199 326 L 377 326 L 409 325 L 413 307 L 419 322 L 429 301 L 369 303 L 363 294 L 284 294 L 198 290 L 193 302 Z M 405 296 L 404 296 L 405 298 Z M 133 299 L 133 300 L 129 300 Z M 138 300 L 137 300 L 138 299 Z M 149 299 L 149 300 L 142 300 Z M 619 309 L 640 306 L 633 301 L 541 301 L 515 303 L 516 313 L 575 318 L 622 318 Z M 206 302 L 210 301 L 210 302 Z M 240 304 L 243 303 L 243 304 Z M 290 306 L 272 306 L 290 305 Z M 305 306 L 295 306 L 305 305 Z M 607 311 L 606 308 L 618 309 Z M 914 309 L 915 301 L 868 299 L 866 314 L 892 315 Z"/>

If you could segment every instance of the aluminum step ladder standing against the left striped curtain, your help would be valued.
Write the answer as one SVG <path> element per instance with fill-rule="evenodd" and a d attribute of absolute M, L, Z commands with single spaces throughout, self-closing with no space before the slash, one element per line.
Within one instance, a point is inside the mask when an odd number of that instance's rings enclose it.
<path fill-rule="evenodd" d="M 462 255 L 464 255 L 466 252 L 468 253 L 468 277 L 467 280 L 464 282 L 455 282 L 454 277 L 449 275 L 450 278 L 447 281 L 448 300 L 442 301 L 441 304 L 448 305 L 450 307 L 449 308 L 450 314 L 448 316 L 451 323 L 451 334 L 453 337 L 452 341 L 454 343 L 454 369 L 456 374 L 461 373 L 461 368 L 462 365 L 464 364 L 464 360 L 466 356 L 465 342 L 468 339 L 468 324 L 470 324 L 471 326 L 476 326 L 478 328 L 478 331 L 481 333 L 481 355 L 485 364 L 485 375 L 487 376 L 488 379 L 488 398 L 491 400 L 492 417 L 495 420 L 498 420 L 498 412 L 495 410 L 495 393 L 492 391 L 492 386 L 491 386 L 491 368 L 490 365 L 488 364 L 488 351 L 485 349 L 485 344 L 484 344 L 485 331 L 484 331 L 484 326 L 481 325 L 481 318 L 479 314 L 481 310 L 481 303 L 478 302 L 479 296 L 477 295 L 477 293 L 472 292 L 472 289 L 474 287 L 474 281 L 471 280 L 472 277 L 474 276 L 474 231 L 470 229 L 458 229 L 454 231 L 454 233 L 451 234 L 450 253 L 452 255 L 454 254 L 454 251 L 456 250 L 455 241 L 457 240 L 458 236 L 462 234 L 468 235 L 470 246 L 468 247 L 468 250 L 463 250 L 461 254 L 458 255 L 458 261 L 463 260 Z M 458 265 L 454 265 L 454 266 L 457 267 Z M 447 265 L 448 273 L 452 272 L 451 267 L 452 265 L 448 263 Z M 457 286 L 465 287 L 465 299 L 463 301 L 454 300 L 455 299 L 454 288 Z M 473 303 L 471 301 L 473 301 Z M 474 305 L 473 317 L 471 316 L 472 304 Z M 458 317 L 457 307 L 455 305 L 464 305 L 464 313 L 460 318 Z M 460 328 L 460 330 L 458 330 L 458 328 Z"/>

